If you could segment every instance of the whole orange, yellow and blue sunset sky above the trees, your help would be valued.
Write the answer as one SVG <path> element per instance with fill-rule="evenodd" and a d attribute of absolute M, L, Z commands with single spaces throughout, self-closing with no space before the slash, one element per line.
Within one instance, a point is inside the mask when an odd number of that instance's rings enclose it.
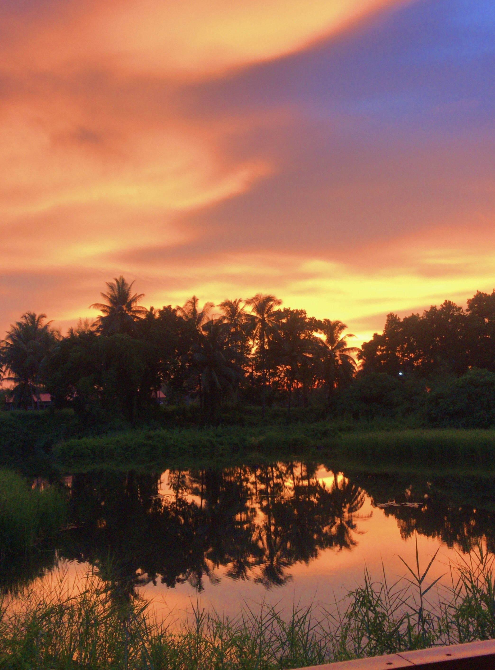
<path fill-rule="evenodd" d="M 0 336 L 275 293 L 344 320 L 495 287 L 494 0 L 2 0 Z"/>

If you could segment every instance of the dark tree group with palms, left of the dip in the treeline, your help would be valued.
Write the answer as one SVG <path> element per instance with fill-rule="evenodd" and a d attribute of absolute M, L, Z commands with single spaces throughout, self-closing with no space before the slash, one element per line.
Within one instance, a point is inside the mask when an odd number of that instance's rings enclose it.
<path fill-rule="evenodd" d="M 197 401 L 205 421 L 220 403 L 307 405 L 327 401 L 356 374 L 358 349 L 345 324 L 281 307 L 274 295 L 225 300 L 202 307 L 193 296 L 182 307 L 139 306 L 124 277 L 107 283 L 94 322 L 80 320 L 67 336 L 44 314 L 24 314 L 0 349 L 4 379 L 15 407 L 36 407 L 43 392 L 56 407 L 86 417 L 144 415 L 167 403 Z"/>

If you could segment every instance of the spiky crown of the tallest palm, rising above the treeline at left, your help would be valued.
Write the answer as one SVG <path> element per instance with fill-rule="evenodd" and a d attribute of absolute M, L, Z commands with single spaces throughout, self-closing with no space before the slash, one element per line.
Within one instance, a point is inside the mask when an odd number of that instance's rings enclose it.
<path fill-rule="evenodd" d="M 136 332 L 135 323 L 145 316 L 147 310 L 144 307 L 138 307 L 144 293 L 131 295 L 133 283 L 133 281 L 130 284 L 127 283 L 122 275 L 118 278 L 114 277 L 114 281 L 107 281 L 108 293 L 100 293 L 107 302 L 95 302 L 90 305 L 90 308 L 103 312 L 103 316 L 98 316 L 96 319 L 102 334 L 113 335 L 121 332 L 133 334 Z"/>

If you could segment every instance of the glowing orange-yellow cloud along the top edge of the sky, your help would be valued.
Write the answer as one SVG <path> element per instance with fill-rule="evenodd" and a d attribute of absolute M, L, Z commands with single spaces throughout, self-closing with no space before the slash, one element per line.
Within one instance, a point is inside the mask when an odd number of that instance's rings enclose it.
<path fill-rule="evenodd" d="M 113 70 L 195 79 L 307 48 L 370 13 L 407 1 L 88 1 L 56 5 L 46 15 L 17 15 L 3 25 L 18 35 L 16 68 L 104 62 Z M 15 38 L 8 42 L 12 49 Z"/>

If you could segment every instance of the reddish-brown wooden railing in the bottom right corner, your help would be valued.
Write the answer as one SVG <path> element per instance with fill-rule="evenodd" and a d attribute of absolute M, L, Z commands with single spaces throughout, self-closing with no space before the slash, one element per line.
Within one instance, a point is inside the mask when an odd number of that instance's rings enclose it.
<path fill-rule="evenodd" d="M 444 668 L 445 670 L 495 670 L 495 640 L 405 651 L 400 654 L 374 656 L 358 661 L 313 665 L 300 670 L 394 670 L 395 668 L 413 667 L 422 670 L 443 670 Z"/>

